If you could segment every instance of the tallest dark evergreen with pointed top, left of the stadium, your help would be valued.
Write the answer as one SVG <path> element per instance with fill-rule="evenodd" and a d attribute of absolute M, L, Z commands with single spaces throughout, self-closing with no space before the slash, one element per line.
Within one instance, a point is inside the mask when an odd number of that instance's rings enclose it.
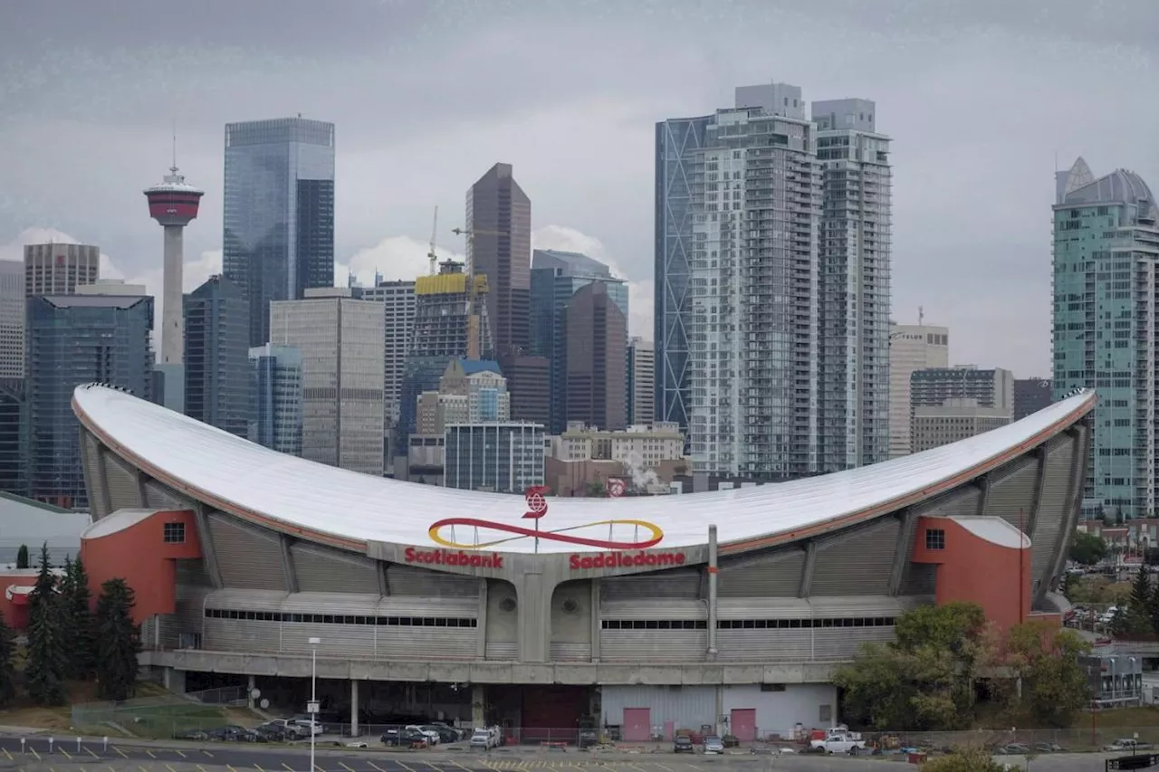
<path fill-rule="evenodd" d="M 28 695 L 38 705 L 65 704 L 68 670 L 67 625 L 57 593 L 57 577 L 49 562 L 49 545 L 41 547 L 39 575 L 29 593 L 28 664 L 24 682 Z"/>

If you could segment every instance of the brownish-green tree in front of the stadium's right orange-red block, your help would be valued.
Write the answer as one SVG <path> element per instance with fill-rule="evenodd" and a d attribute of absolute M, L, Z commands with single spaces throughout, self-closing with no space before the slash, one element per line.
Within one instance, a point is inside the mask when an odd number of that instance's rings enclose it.
<path fill-rule="evenodd" d="M 1091 644 L 1069 629 L 1029 621 L 1011 628 L 1005 664 L 1022 679 L 1020 706 L 1038 726 L 1064 728 L 1091 701 L 1091 686 L 1078 657 Z"/>

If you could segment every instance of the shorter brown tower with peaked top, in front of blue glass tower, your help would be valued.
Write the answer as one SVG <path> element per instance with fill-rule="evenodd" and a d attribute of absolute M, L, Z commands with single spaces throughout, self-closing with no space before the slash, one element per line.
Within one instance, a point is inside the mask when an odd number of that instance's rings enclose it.
<path fill-rule="evenodd" d="M 628 320 L 608 294 L 607 284 L 591 282 L 568 303 L 568 421 L 615 431 L 627 427 Z"/>

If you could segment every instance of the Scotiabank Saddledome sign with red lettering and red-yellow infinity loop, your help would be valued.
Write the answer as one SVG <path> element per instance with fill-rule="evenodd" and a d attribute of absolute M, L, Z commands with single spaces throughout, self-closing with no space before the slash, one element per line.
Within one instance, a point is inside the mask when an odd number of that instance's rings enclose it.
<path fill-rule="evenodd" d="M 539 527 L 539 520 L 547 514 L 545 493 L 545 488 L 531 488 L 526 494 L 527 512 L 524 514 L 523 519 L 533 520 L 534 527 L 474 517 L 449 517 L 432 523 L 428 531 L 431 541 L 439 545 L 442 549 L 408 547 L 403 558 L 408 563 L 502 569 L 503 555 L 497 552 L 487 553 L 483 552 L 484 549 L 510 541 L 533 539 L 537 553 L 540 540 L 606 551 L 568 555 L 568 567 L 571 570 L 676 567 L 683 566 L 687 559 L 683 552 L 650 552 L 649 547 L 656 546 L 664 539 L 664 532 L 658 525 L 648 520 L 596 520 L 555 531 L 544 531 Z M 595 529 L 602 530 L 605 526 L 607 527 L 606 539 L 575 533 L 576 531 L 590 533 Z M 632 538 L 618 538 L 617 534 L 622 533 L 628 527 L 632 529 Z M 474 538 L 471 541 L 460 540 L 459 534 L 464 531 Z M 502 536 L 480 539 L 480 533 Z"/>

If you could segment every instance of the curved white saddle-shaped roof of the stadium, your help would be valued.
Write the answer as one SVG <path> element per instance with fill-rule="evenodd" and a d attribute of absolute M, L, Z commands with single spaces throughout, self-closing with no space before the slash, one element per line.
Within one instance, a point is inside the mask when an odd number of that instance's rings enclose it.
<path fill-rule="evenodd" d="M 707 541 L 717 526 L 722 552 L 750 549 L 852 525 L 961 485 L 1074 423 L 1094 407 L 1080 392 L 1016 423 L 870 467 L 779 485 L 691 495 L 614 500 L 549 497 L 540 520 L 575 539 L 640 542 L 662 531 L 656 548 Z M 115 452 L 160 481 L 245 519 L 357 549 L 366 540 L 437 547 L 431 526 L 473 518 L 500 527 L 442 527 L 446 541 L 533 552 L 531 538 L 504 529 L 522 519 L 523 496 L 438 488 L 348 472 L 255 445 L 105 386 L 80 386 L 73 408 Z M 607 520 L 639 520 L 610 525 Z M 607 548 L 607 547 L 605 547 Z M 599 546 L 541 538 L 539 552 L 598 552 Z"/>

